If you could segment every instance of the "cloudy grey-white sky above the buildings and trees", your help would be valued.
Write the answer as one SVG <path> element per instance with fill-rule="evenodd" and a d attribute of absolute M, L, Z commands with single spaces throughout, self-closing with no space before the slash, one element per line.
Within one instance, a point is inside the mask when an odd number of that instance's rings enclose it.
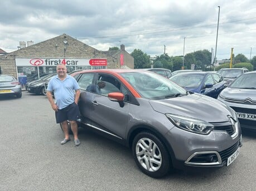
<path fill-rule="evenodd" d="M 0 7 L 0 48 L 8 53 L 21 41 L 65 33 L 99 51 L 124 44 L 151 57 L 217 49 L 218 60 L 229 59 L 231 48 L 256 56 L 255 0 L 6 0 Z"/>

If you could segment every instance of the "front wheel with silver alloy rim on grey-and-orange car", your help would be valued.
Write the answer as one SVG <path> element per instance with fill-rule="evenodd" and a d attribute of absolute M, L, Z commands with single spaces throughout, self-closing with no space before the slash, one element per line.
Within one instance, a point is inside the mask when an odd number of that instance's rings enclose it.
<path fill-rule="evenodd" d="M 149 177 L 160 178 L 170 171 L 170 155 L 156 135 L 149 132 L 138 133 L 133 139 L 132 152 L 139 169 Z"/>

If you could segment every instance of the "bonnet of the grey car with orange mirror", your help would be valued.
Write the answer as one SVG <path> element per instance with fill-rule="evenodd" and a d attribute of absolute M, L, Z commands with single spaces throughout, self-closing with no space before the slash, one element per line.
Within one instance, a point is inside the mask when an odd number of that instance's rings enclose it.
<path fill-rule="evenodd" d="M 219 100 L 197 93 L 177 98 L 150 100 L 149 103 L 154 110 L 163 114 L 183 115 L 211 123 L 226 122 L 229 120 L 227 115 L 232 115 L 231 109 Z"/>

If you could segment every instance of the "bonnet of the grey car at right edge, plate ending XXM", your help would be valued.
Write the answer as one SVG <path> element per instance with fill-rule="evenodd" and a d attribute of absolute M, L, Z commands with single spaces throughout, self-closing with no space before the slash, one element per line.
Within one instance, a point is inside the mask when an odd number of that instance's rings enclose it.
<path fill-rule="evenodd" d="M 241 89 L 241 88 L 225 88 L 221 95 L 229 99 L 244 100 L 250 98 L 256 101 L 256 89 Z"/>

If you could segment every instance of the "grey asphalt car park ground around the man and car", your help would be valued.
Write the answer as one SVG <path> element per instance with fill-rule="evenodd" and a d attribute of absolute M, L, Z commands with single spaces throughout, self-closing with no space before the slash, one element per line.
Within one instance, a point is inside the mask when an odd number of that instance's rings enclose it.
<path fill-rule="evenodd" d="M 256 134 L 243 131 L 239 157 L 220 169 L 141 173 L 127 147 L 79 128 L 81 145 L 60 144 L 60 125 L 44 96 L 0 98 L 1 190 L 254 190 Z M 37 107 L 35 107 L 37 105 Z M 73 137 L 71 137 L 73 138 Z"/>

